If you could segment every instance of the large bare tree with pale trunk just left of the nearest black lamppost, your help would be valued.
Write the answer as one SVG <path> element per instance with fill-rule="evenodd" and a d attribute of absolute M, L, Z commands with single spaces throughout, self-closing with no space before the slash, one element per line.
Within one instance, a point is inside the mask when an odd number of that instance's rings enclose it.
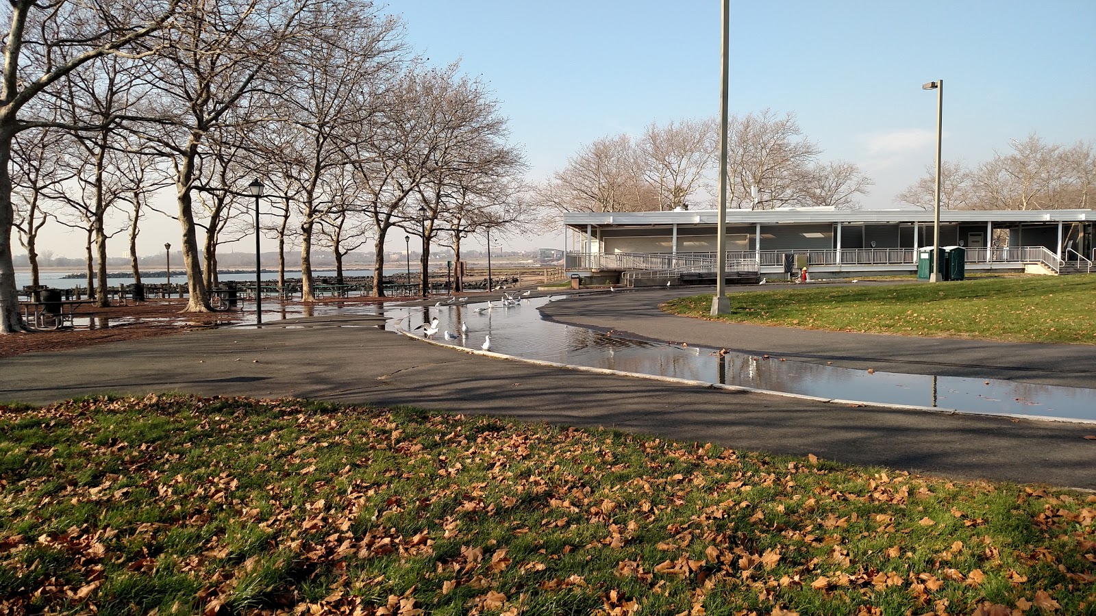
<path fill-rule="evenodd" d="M 193 0 L 175 18 L 174 27 L 158 33 L 149 83 L 155 105 L 141 134 L 170 160 L 182 231 L 189 301 L 184 311 L 212 310 L 202 273 L 194 217 L 198 161 L 207 136 L 243 130 L 258 122 L 253 104 L 262 92 L 284 87 L 284 55 L 305 48 L 311 12 L 319 0 Z M 281 73 L 279 73 L 281 71 Z"/>

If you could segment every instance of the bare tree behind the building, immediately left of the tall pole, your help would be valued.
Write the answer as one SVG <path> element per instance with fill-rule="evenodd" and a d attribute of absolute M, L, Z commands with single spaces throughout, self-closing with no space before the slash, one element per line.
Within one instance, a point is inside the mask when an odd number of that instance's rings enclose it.
<path fill-rule="evenodd" d="M 712 118 L 648 125 L 639 141 L 640 164 L 647 181 L 658 186 L 659 210 L 688 209 L 715 162 L 715 130 Z"/>

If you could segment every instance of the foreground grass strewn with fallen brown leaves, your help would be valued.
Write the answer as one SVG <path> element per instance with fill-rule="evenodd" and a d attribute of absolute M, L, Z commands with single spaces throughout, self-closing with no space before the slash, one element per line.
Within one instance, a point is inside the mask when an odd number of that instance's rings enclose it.
<path fill-rule="evenodd" d="M 95 399 L 0 408 L 0 477 L 5 614 L 1096 606 L 1096 497 L 609 431 Z"/>

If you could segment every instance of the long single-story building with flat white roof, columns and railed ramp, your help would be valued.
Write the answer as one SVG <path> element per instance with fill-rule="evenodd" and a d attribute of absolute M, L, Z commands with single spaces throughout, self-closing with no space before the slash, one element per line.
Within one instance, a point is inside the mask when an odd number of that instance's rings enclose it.
<path fill-rule="evenodd" d="M 642 286 L 715 272 L 716 210 L 567 213 L 567 267 Z M 788 254 L 814 278 L 916 273 L 933 213 L 784 208 L 727 213 L 728 269 L 778 276 Z M 944 210 L 940 246 L 966 248 L 968 271 L 1091 272 L 1096 212 Z"/>

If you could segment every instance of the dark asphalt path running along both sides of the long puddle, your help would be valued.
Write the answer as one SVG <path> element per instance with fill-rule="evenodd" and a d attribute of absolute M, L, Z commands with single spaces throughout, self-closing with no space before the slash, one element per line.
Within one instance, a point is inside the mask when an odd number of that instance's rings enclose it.
<path fill-rule="evenodd" d="M 803 344 L 801 332 L 762 328 L 764 332 L 750 338 L 741 326 L 660 316 L 658 303 L 671 295 L 682 295 L 682 290 L 603 293 L 553 303 L 548 312 L 559 320 L 613 327 L 657 340 L 708 345 L 739 341 L 741 344 L 726 345 L 767 349 L 765 352 L 770 353 L 788 351 L 789 356 L 796 345 Z M 546 368 L 426 344 L 383 328 L 378 317 L 315 317 L 279 321 L 262 329 L 195 331 L 9 357 L 0 360 L 0 400 L 48 403 L 89 393 L 180 391 L 410 404 L 446 412 L 607 426 L 749 450 L 800 456 L 813 453 L 849 464 L 956 478 L 1096 489 L 1096 441 L 1084 438 L 1096 434 L 1094 425 L 850 408 Z M 651 335 L 654 333 L 665 335 Z M 827 335 L 840 342 L 849 334 Z M 890 344 L 877 347 L 876 338 Z M 780 351 L 781 344 L 788 345 L 785 351 Z M 799 352 L 821 357 L 826 352 L 824 344 L 821 339 L 814 340 Z M 915 353 L 928 355 L 906 357 L 906 350 L 918 344 L 928 346 Z M 1071 368 L 1069 362 L 1059 365 L 1053 361 L 1062 351 L 1060 345 L 1047 351 L 1047 365 L 1041 364 L 1041 356 L 1026 353 L 1003 362 L 1002 353 L 993 351 L 1002 347 L 989 345 L 981 356 L 996 361 L 985 368 L 962 364 L 962 355 L 950 351 L 941 357 L 940 347 L 933 357 L 933 344 L 941 342 L 871 336 L 860 346 L 845 342 L 833 351 L 843 363 L 866 360 L 877 369 L 893 369 L 890 364 L 936 365 L 964 375 L 983 375 L 989 369 L 1011 375 L 1004 378 L 1031 378 L 1036 383 L 1076 385 L 1076 379 L 1086 379 L 1093 384 L 1092 351 L 1087 360 L 1072 360 L 1084 363 Z M 979 352 L 978 346 L 971 346 L 970 352 Z M 1025 356 L 1037 362 L 1034 367 L 1024 367 Z"/>

